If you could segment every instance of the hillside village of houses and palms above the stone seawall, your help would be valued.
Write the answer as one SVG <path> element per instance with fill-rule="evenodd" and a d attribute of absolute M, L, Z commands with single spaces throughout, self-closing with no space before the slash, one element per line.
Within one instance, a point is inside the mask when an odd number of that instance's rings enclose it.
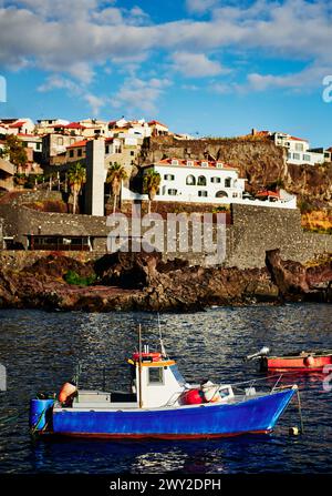
<path fill-rule="evenodd" d="M 221 148 L 216 148 L 217 144 Z M 251 148 L 242 159 L 237 155 L 238 149 L 227 153 L 235 145 Z M 256 168 L 259 146 L 263 146 L 262 163 L 257 162 Z M 273 171 L 277 180 L 268 183 L 260 176 L 252 188 L 252 173 L 246 171 L 248 153 L 253 170 L 264 169 L 264 160 L 268 163 L 269 154 L 274 154 L 282 169 Z M 229 160 L 224 155 L 229 155 Z M 6 209 L 6 204 L 21 202 L 44 213 L 94 217 L 116 211 L 128 214 L 137 205 L 143 212 L 151 212 L 152 204 L 154 211 L 162 213 L 218 212 L 234 204 L 294 210 L 299 207 L 297 194 L 288 192 L 282 180 L 288 168 L 309 165 L 315 170 L 329 165 L 331 160 L 332 148 L 311 149 L 308 140 L 283 132 L 252 129 L 236 138 L 197 138 L 174 133 L 156 120 L 127 121 L 124 117 L 110 122 L 42 119 L 34 123 L 25 118 L 0 119 L 0 206 Z M 8 214 L 3 211 L 0 216 L 7 219 L 3 247 L 17 246 L 18 236 L 9 227 Z M 24 247 L 34 247 L 40 242 L 51 249 L 55 237 L 59 246 L 59 239 L 65 236 L 61 230 L 44 232 L 41 225 L 34 231 L 24 233 Z M 51 241 L 34 237 L 32 245 L 31 234 L 55 237 Z M 71 234 L 77 235 L 77 231 Z M 74 246 L 75 240 L 70 241 Z M 60 244 L 70 249 L 62 241 Z"/>

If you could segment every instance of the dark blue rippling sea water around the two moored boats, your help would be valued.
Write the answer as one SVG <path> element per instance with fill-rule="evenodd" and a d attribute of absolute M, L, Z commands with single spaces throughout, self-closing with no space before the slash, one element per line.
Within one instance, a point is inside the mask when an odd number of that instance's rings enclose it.
<path fill-rule="evenodd" d="M 273 353 L 332 348 L 332 306 L 220 307 L 160 316 L 164 343 L 188 382 L 209 378 L 238 383 L 266 378 L 242 357 L 269 346 Z M 29 401 L 38 392 L 59 392 L 82 365 L 83 387 L 126 389 L 126 357 L 137 346 L 137 326 L 158 348 L 157 316 L 149 313 L 87 314 L 0 311 L 0 363 L 8 387 L 0 392 L 1 474 L 243 474 L 332 472 L 332 371 L 292 374 L 301 392 L 304 434 L 295 402 L 268 436 L 221 441 L 110 442 L 33 441 Z M 104 372 L 103 372 L 104 371 Z M 269 376 L 272 385 L 274 377 Z M 332 388 L 332 387 L 331 387 Z"/>

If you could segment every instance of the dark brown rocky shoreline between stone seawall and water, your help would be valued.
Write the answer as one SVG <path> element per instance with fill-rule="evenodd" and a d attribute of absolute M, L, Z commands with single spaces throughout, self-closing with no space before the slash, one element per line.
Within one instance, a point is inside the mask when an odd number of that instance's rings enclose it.
<path fill-rule="evenodd" d="M 197 311 L 210 305 L 332 301 L 331 256 L 304 266 L 282 261 L 278 251 L 268 252 L 266 267 L 247 270 L 165 263 L 158 253 L 115 253 L 85 263 L 53 254 L 20 270 L 1 267 L 0 307 Z M 70 271 L 77 280 L 96 282 L 69 284 Z"/>

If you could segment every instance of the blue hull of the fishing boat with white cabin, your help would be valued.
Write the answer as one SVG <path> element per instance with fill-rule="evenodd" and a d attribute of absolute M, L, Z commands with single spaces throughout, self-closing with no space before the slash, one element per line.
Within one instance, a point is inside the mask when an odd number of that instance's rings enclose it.
<path fill-rule="evenodd" d="M 209 438 L 273 429 L 295 389 L 235 404 L 151 411 L 54 409 L 52 433 L 98 438 Z"/>

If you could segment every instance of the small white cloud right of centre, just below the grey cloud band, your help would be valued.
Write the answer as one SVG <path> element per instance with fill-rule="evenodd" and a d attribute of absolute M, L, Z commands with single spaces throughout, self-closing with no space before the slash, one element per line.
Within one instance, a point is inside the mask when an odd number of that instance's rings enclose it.
<path fill-rule="evenodd" d="M 229 72 L 219 62 L 209 60 L 204 53 L 176 52 L 172 55 L 174 70 L 186 78 L 206 78 Z"/>

